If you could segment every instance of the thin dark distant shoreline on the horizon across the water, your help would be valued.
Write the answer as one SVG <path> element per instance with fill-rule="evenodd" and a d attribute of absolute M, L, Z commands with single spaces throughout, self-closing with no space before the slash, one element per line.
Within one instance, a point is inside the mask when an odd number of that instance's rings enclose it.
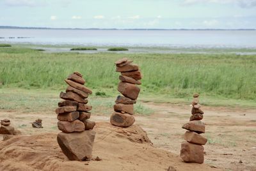
<path fill-rule="evenodd" d="M 102 29 L 102 28 L 52 28 L 52 27 L 18 27 L 0 26 L 0 29 L 57 29 L 57 30 L 163 30 L 163 31 L 255 31 L 256 29 Z"/>

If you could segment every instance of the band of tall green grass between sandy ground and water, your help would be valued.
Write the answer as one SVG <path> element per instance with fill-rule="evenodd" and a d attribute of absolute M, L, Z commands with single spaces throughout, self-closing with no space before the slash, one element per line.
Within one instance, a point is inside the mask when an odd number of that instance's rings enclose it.
<path fill-rule="evenodd" d="M 67 86 L 65 77 L 80 71 L 94 93 L 115 96 L 119 73 L 115 72 L 114 63 L 122 57 L 139 64 L 143 73 L 142 96 L 186 101 L 198 92 L 209 99 L 220 98 L 234 104 L 256 102 L 255 55 L 44 53 L 6 47 L 0 48 L 0 87 L 59 91 Z"/>

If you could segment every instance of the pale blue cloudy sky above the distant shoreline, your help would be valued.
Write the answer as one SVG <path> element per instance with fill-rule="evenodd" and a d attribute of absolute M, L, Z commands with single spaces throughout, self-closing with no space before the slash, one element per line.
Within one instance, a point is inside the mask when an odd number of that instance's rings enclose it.
<path fill-rule="evenodd" d="M 0 0 L 0 26 L 256 29 L 256 0 Z"/>

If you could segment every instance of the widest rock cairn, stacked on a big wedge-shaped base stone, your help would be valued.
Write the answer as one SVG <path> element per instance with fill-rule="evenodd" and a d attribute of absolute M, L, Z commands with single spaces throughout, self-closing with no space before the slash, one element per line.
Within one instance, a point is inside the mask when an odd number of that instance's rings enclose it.
<path fill-rule="evenodd" d="M 65 79 L 68 84 L 66 93 L 61 92 L 55 112 L 58 114 L 57 141 L 69 160 L 88 160 L 92 158 L 92 147 L 95 138 L 93 127 L 95 122 L 89 121 L 92 106 L 88 103 L 88 95 L 92 91 L 84 86 L 81 73 L 75 71 Z"/>

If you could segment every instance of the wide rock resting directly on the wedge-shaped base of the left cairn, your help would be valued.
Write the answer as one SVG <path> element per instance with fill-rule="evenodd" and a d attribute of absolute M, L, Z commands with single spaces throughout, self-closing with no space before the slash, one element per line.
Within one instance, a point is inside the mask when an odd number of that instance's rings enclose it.
<path fill-rule="evenodd" d="M 81 132 L 84 131 L 84 123 L 77 119 L 72 122 L 58 121 L 58 128 L 64 133 Z"/>

